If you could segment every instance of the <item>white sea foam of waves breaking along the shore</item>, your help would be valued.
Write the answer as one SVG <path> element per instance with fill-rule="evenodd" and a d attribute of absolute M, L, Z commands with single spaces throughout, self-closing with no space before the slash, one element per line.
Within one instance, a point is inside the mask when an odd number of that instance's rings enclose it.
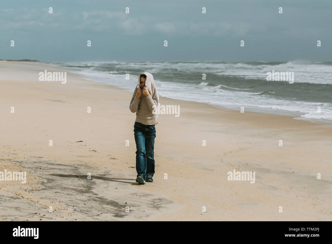
<path fill-rule="evenodd" d="M 282 64 L 271 64 L 260 61 L 256 65 L 248 63 L 216 63 L 216 62 L 145 62 L 145 63 L 128 63 L 128 62 L 66 62 L 61 63 L 63 66 L 76 68 L 74 73 L 79 73 L 93 81 L 103 82 L 112 86 L 124 88 L 127 91 L 133 91 L 137 84 L 136 75 L 130 74 L 129 80 L 125 79 L 125 73 L 128 70 L 147 69 L 153 73 L 156 86 L 160 96 L 173 99 L 188 101 L 198 101 L 209 104 L 249 106 L 256 108 L 272 109 L 279 111 L 290 111 L 302 113 L 303 118 L 326 119 L 332 120 L 332 103 L 320 103 L 310 101 L 296 101 L 292 98 L 282 98 L 274 91 L 264 91 L 257 89 L 259 92 L 250 92 L 250 84 L 241 88 L 237 83 L 224 85 L 225 76 L 239 77 L 242 80 L 258 79 L 266 82 L 266 72 L 274 69 L 275 71 L 293 71 L 295 82 L 311 84 L 332 84 L 332 66 L 308 62 L 305 60 L 295 60 Z M 78 67 L 72 67 L 78 66 Z M 86 68 L 84 68 L 86 66 Z M 79 68 L 80 67 L 80 68 Z M 209 73 L 222 77 L 217 82 L 206 81 L 165 81 L 159 80 L 160 74 L 166 74 L 169 77 L 178 77 L 182 75 L 186 79 L 193 72 Z M 199 77 L 199 75 L 198 75 Z M 207 75 L 207 77 L 209 77 Z M 201 79 L 199 77 L 198 79 Z M 181 79 L 180 79 L 181 80 Z M 187 83 L 186 83 L 187 82 Z M 191 82 L 191 83 L 190 83 Z M 214 84 L 213 84 L 214 83 Z M 221 84 L 220 84 L 221 83 Z M 237 87 L 238 86 L 238 87 Z M 243 86 L 242 86 L 243 87 Z M 247 92 L 247 91 L 248 92 Z M 282 95 L 282 94 L 281 94 Z M 317 113 L 317 107 L 321 108 L 321 113 Z"/>

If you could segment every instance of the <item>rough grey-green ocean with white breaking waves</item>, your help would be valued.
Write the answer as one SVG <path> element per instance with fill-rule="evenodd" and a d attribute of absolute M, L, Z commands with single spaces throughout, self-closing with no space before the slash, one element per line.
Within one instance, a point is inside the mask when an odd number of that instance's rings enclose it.
<path fill-rule="evenodd" d="M 332 62 L 52 62 L 87 79 L 133 92 L 150 72 L 159 96 L 218 108 L 281 114 L 332 123 Z M 267 81 L 267 72 L 294 72 L 294 83 Z M 129 80 L 125 75 L 129 74 Z M 206 79 L 202 79 L 206 74 Z M 162 104 L 162 102 L 161 102 Z M 319 111 L 320 109 L 320 111 Z M 320 112 L 320 113 L 318 113 Z"/>

